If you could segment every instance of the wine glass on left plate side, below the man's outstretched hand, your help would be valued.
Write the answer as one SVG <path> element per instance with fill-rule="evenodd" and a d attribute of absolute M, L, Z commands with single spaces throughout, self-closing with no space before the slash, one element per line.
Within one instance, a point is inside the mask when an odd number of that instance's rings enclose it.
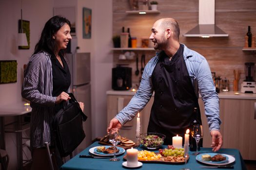
<path fill-rule="evenodd" d="M 119 161 L 120 159 L 117 158 L 116 152 L 117 152 L 117 145 L 121 141 L 121 136 L 119 134 L 118 128 L 110 129 L 109 131 L 109 142 L 113 144 L 114 146 L 114 157 L 110 159 L 110 161 Z"/>

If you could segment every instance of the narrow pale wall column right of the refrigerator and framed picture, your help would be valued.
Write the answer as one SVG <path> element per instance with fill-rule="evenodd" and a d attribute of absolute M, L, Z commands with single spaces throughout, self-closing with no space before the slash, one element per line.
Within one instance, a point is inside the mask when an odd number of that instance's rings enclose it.
<path fill-rule="evenodd" d="M 92 67 L 92 98 L 93 98 L 93 138 L 106 135 L 107 95 L 111 89 L 113 68 L 112 43 L 112 0 L 95 0 L 96 13 L 94 13 L 95 57 Z M 94 17 L 93 16 L 93 17 Z"/>

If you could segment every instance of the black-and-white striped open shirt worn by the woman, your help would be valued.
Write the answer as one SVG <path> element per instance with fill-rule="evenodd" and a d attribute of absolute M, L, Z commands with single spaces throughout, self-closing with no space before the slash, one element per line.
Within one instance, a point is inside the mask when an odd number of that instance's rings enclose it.
<path fill-rule="evenodd" d="M 44 142 L 53 142 L 54 106 L 57 97 L 52 96 L 51 55 L 42 51 L 33 54 L 24 70 L 21 95 L 32 107 L 30 142 L 33 148 L 44 147 Z M 70 92 L 70 88 L 67 92 Z"/>

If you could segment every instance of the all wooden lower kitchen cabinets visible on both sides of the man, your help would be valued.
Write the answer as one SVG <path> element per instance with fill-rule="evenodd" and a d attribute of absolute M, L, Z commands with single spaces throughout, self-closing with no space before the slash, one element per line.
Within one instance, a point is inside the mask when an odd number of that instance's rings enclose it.
<path fill-rule="evenodd" d="M 129 91 L 107 93 L 108 122 L 118 113 L 118 98 L 124 98 L 123 106 L 126 106 L 135 93 Z M 219 114 L 222 121 L 220 132 L 223 136 L 222 148 L 236 148 L 243 159 L 256 160 L 256 94 L 234 95 L 234 92 L 219 93 Z M 151 107 L 154 96 L 145 108 L 140 112 L 141 133 L 147 132 Z M 209 132 L 207 118 L 204 114 L 204 105 L 201 98 L 198 99 L 203 125 L 203 147 L 209 148 L 212 137 Z M 122 136 L 135 138 L 136 119 L 132 120 L 133 127 L 124 127 Z"/>

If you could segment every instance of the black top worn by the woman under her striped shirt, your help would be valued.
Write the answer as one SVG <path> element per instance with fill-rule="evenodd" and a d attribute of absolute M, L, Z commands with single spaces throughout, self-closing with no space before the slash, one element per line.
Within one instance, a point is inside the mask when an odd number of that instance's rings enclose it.
<path fill-rule="evenodd" d="M 51 57 L 52 75 L 53 75 L 53 92 L 52 96 L 57 97 L 64 91 L 67 92 L 71 84 L 71 76 L 65 59 L 61 56 L 63 68 L 56 57 Z"/>

